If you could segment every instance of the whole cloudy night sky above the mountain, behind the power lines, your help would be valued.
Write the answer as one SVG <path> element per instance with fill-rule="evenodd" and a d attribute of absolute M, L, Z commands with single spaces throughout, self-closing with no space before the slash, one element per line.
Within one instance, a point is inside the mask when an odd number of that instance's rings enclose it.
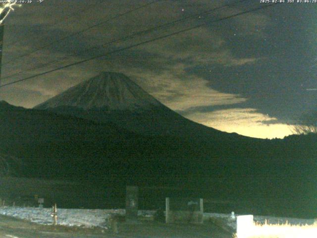
<path fill-rule="evenodd" d="M 115 71 L 126 74 L 188 119 L 243 135 L 283 138 L 291 133 L 288 124 L 317 106 L 317 3 L 286 1 L 214 22 L 268 3 L 249 0 L 200 15 L 236 1 L 161 0 L 57 43 L 53 42 L 151 1 L 24 3 L 15 7 L 4 21 L 1 84 L 205 25 L 3 87 L 0 98 L 32 108 L 100 71 Z M 195 14 L 199 16 L 103 46 L 114 39 Z M 91 47 L 95 48 L 85 51 Z M 18 58 L 38 48 L 43 49 Z M 59 61 L 66 56 L 71 57 Z M 6 77 L 54 60 L 52 65 Z"/>

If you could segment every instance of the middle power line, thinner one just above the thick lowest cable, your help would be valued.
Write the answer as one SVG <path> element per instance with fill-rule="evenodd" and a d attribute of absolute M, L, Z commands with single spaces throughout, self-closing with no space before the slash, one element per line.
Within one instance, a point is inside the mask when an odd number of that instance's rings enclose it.
<path fill-rule="evenodd" d="M 12 76 L 15 76 L 15 75 L 18 75 L 18 74 L 21 74 L 21 73 L 24 73 L 24 72 L 29 72 L 29 71 L 32 71 L 32 70 L 35 70 L 35 69 L 39 69 L 39 68 L 43 68 L 45 66 L 48 66 L 50 64 L 53 64 L 55 62 L 59 62 L 59 61 L 62 61 L 62 60 L 65 60 L 67 58 L 70 58 L 70 57 L 73 57 L 73 56 L 76 56 L 78 54 L 82 54 L 82 53 L 85 53 L 85 52 L 88 52 L 88 51 L 91 51 L 91 50 L 95 50 L 95 49 L 99 49 L 101 47 L 105 47 L 105 46 L 108 46 L 112 43 L 116 43 L 116 42 L 119 42 L 119 41 L 125 41 L 125 40 L 129 40 L 129 39 L 133 39 L 133 37 L 135 36 L 140 36 L 140 35 L 144 35 L 144 34 L 147 34 L 147 33 L 150 33 L 154 30 L 158 30 L 160 28 L 163 28 L 163 27 L 168 27 L 168 26 L 173 26 L 179 22 L 183 22 L 185 20 L 188 20 L 188 19 L 191 19 L 191 18 L 195 18 L 195 17 L 200 17 L 202 15 L 205 15 L 205 14 L 209 14 L 211 13 L 212 11 L 215 11 L 215 10 L 219 10 L 219 9 L 222 9 L 222 8 L 226 8 L 226 7 L 231 7 L 231 6 L 234 6 L 238 3 L 241 3 L 241 2 L 244 2 L 244 1 L 249 1 L 249 0 L 238 0 L 234 3 L 230 3 L 230 4 L 225 4 L 223 6 L 219 6 L 219 7 L 214 7 L 212 9 L 209 9 L 209 10 L 206 10 L 206 11 L 203 11 L 203 12 L 200 12 L 200 13 L 196 13 L 194 15 L 190 15 L 190 16 L 186 16 L 186 17 L 182 17 L 182 18 L 179 18 L 177 20 L 174 20 L 174 21 L 171 21 L 171 22 L 167 22 L 167 23 L 164 23 L 164 24 L 161 24 L 159 26 L 155 26 L 155 27 L 151 27 L 149 29 L 146 29 L 146 30 L 143 30 L 143 31 L 139 31 L 139 32 L 136 32 L 136 33 L 133 33 L 129 36 L 125 36 L 125 37 L 121 37 L 121 38 L 117 38 L 117 39 L 114 39 L 114 40 L 111 40 L 110 42 L 107 42 L 101 46 L 94 46 L 94 47 L 90 47 L 84 51 L 80 51 L 80 52 L 76 52 L 70 56 L 66 56 L 66 57 L 63 57 L 59 60 L 52 60 L 52 61 L 49 61 L 47 63 L 44 63 L 44 64 L 41 64 L 41 65 L 37 65 L 35 67 L 32 67 L 32 68 L 29 68 L 29 69 L 26 69 L 26 70 L 22 70 L 22 71 L 19 71 L 19 72 L 16 72 L 16 73 L 13 73 L 13 74 L 9 74 L 9 75 L 6 75 L 4 77 L 2 77 L 1 79 L 5 79 L 5 78 L 9 78 L 9 77 L 12 77 Z"/>

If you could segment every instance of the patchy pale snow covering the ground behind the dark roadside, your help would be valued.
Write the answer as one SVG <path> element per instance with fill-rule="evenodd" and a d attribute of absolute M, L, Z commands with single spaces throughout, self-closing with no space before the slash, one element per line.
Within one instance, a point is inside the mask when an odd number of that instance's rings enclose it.
<path fill-rule="evenodd" d="M 0 214 L 11 217 L 16 217 L 38 224 L 50 225 L 52 224 L 51 217 L 52 208 L 34 208 L 34 207 L 0 207 Z M 106 228 L 106 219 L 111 214 L 124 215 L 124 209 L 58 209 L 57 210 L 58 225 L 64 226 L 82 226 L 82 227 L 103 227 Z M 139 216 L 151 217 L 154 216 L 155 211 L 139 211 Z M 237 228 L 236 219 L 231 218 L 231 214 L 219 213 L 204 213 L 204 220 L 208 221 L 210 218 L 218 218 L 224 221 L 228 226 L 234 230 Z M 254 216 L 254 221 L 261 224 L 288 224 L 291 225 L 312 225 L 314 219 L 297 219 L 297 218 L 280 218 L 269 216 Z"/>

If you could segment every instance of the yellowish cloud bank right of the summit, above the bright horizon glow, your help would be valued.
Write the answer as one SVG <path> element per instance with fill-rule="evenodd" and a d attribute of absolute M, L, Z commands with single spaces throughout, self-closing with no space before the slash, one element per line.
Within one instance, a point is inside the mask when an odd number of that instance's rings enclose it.
<path fill-rule="evenodd" d="M 184 71 L 185 65 L 172 65 L 160 74 L 135 71 L 132 78 L 147 92 L 172 110 L 184 111 L 199 106 L 228 105 L 245 102 L 237 94 L 218 92 L 208 81 Z"/>

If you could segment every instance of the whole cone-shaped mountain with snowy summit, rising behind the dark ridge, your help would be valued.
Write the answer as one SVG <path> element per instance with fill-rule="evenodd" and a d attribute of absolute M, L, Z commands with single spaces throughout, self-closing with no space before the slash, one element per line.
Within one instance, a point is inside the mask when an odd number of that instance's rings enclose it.
<path fill-rule="evenodd" d="M 99 122 L 112 122 L 143 135 L 172 135 L 196 139 L 207 136 L 216 140 L 247 138 L 185 119 L 159 103 L 121 73 L 102 72 L 36 106 L 35 109 Z"/>

